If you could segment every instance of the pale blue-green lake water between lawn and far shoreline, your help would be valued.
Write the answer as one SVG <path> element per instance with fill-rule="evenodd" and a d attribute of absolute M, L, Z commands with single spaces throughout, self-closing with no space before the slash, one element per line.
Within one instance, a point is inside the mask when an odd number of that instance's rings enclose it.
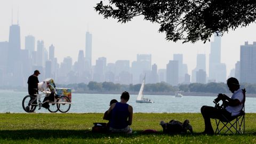
<path fill-rule="evenodd" d="M 0 113 L 26 113 L 22 108 L 22 99 L 28 92 L 0 90 Z M 228 95 L 231 95 L 229 93 Z M 68 113 L 104 113 L 109 108 L 111 99 L 120 100 L 121 94 L 86 94 L 72 93 L 73 104 Z M 134 113 L 200 113 L 203 105 L 213 106 L 216 97 L 183 96 L 175 98 L 174 95 L 145 95 L 155 103 L 136 103 L 137 95 L 130 95 L 127 102 L 133 107 Z M 246 113 L 256 113 L 256 98 L 246 98 Z M 37 113 L 50 113 L 42 108 Z M 59 113 L 59 112 L 58 112 Z"/>

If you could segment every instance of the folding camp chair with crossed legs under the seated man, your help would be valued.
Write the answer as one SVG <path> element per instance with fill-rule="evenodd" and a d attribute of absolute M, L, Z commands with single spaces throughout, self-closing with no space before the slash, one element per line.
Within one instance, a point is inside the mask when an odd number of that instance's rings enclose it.
<path fill-rule="evenodd" d="M 217 128 L 215 130 L 215 134 L 220 134 L 220 132 L 223 130 L 226 130 L 224 133 L 231 132 L 243 134 L 245 132 L 245 89 L 242 89 L 243 91 L 243 108 L 241 109 L 241 112 L 239 115 L 231 116 L 231 117 L 225 117 L 224 115 L 221 116 L 221 118 L 217 119 L 215 118 L 215 122 L 217 125 Z M 220 125 L 222 123 L 222 127 Z M 219 129 L 219 127 L 221 127 Z M 226 128 L 226 129 L 225 129 Z"/>

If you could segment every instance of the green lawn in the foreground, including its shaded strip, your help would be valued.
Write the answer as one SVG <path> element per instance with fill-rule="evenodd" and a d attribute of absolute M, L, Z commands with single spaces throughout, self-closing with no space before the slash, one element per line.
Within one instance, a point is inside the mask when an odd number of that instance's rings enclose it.
<path fill-rule="evenodd" d="M 103 114 L 0 114 L 0 143 L 256 143 L 256 114 L 246 114 L 246 133 L 203 135 L 201 114 L 134 114 L 133 134 L 92 133 Z M 194 134 L 163 134 L 159 121 L 189 119 Z M 213 123 L 213 126 L 215 124 Z M 156 134 L 142 133 L 155 129 Z"/>

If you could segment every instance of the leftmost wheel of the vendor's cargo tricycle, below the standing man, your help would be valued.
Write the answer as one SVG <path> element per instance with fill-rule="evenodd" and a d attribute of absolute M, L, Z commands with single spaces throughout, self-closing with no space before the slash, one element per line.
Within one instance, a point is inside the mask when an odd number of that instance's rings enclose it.
<path fill-rule="evenodd" d="M 37 101 L 36 98 L 27 95 L 25 98 L 22 100 L 22 108 L 27 112 L 27 113 L 33 113 L 36 109 L 37 106 Z"/>

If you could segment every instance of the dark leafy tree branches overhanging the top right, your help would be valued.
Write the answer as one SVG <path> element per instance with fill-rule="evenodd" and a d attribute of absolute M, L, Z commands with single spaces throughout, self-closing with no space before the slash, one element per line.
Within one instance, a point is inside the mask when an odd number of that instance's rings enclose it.
<path fill-rule="evenodd" d="M 126 23 L 138 15 L 159 23 L 168 41 L 210 41 L 216 33 L 245 27 L 256 19 L 256 2 L 250 0 L 108 0 L 94 9 L 104 18 Z"/>

